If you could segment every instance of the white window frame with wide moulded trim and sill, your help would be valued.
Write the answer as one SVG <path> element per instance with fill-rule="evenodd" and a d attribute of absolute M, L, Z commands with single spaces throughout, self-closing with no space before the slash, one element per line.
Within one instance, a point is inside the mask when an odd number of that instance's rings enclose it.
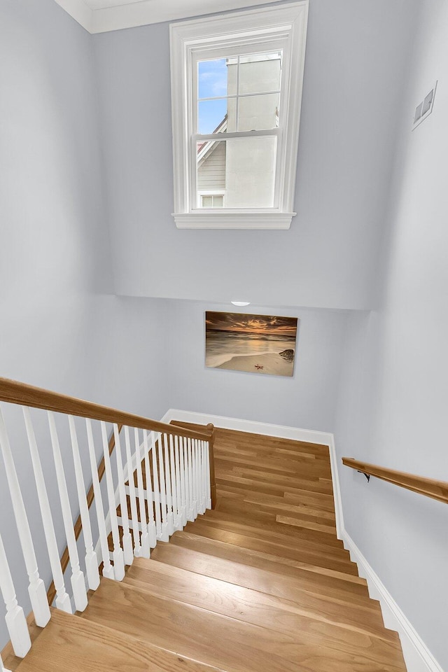
<path fill-rule="evenodd" d="M 170 26 L 172 125 L 174 158 L 174 221 L 177 228 L 289 229 L 293 216 L 300 107 L 307 34 L 308 0 L 283 6 L 215 15 Z M 274 207 L 263 209 L 199 209 L 195 183 L 195 68 L 198 57 L 235 55 L 245 45 L 270 50 L 281 43 L 283 71 L 277 137 L 276 197 Z M 230 52 L 229 52 L 230 53 Z M 246 137 L 250 137 L 248 132 Z M 253 132 L 256 134 L 256 132 Z M 209 139 L 209 136 L 202 136 Z M 223 134 L 221 139 L 232 137 Z M 215 135 L 213 139 L 220 139 Z"/>

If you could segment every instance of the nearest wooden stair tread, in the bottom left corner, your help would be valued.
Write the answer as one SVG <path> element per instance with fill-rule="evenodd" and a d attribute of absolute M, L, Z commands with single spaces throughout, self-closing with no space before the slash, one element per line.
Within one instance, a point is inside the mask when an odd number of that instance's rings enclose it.
<path fill-rule="evenodd" d="M 18 672 L 218 672 L 216 668 L 52 609 Z"/>

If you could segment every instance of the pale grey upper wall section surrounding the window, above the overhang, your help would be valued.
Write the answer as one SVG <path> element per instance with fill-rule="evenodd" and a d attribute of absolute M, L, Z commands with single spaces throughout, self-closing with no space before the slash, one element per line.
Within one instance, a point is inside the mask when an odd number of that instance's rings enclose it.
<path fill-rule="evenodd" d="M 311 1 L 286 232 L 176 230 L 168 25 L 94 36 L 116 292 L 372 307 L 415 4 Z"/>

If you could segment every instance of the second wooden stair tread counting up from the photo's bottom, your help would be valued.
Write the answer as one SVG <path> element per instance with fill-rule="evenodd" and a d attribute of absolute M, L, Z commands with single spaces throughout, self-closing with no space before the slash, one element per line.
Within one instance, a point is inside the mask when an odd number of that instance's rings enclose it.
<path fill-rule="evenodd" d="M 258 672 L 265 668 L 267 657 L 272 672 L 297 672 L 297 664 L 303 670 L 321 672 L 325 659 L 332 661 L 335 671 L 358 672 L 368 661 L 370 666 L 398 672 L 402 661 L 397 643 L 363 633 L 309 621 L 306 631 L 293 636 L 107 579 L 92 596 L 83 618 L 106 620 L 115 629 L 160 647 L 169 648 L 175 642 L 182 656 L 200 657 L 234 672 Z"/>

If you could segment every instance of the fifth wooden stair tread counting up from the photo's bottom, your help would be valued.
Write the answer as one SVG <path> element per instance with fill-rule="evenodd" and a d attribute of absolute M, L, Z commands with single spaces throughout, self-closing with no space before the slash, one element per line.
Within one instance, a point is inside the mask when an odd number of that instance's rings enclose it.
<path fill-rule="evenodd" d="M 241 548 L 259 551 L 263 554 L 277 556 L 281 560 L 290 559 L 346 574 L 358 575 L 358 568 L 355 563 L 351 562 L 349 557 L 334 558 L 332 556 L 321 554 L 318 549 L 307 549 L 307 547 L 302 547 L 300 549 L 290 548 L 288 546 L 277 544 L 274 541 L 259 540 L 234 531 L 216 528 L 213 525 L 208 525 L 207 522 L 206 518 L 201 521 L 197 520 L 194 523 L 189 523 L 184 528 L 184 531 L 205 536 L 209 539 L 224 541 L 225 543 L 233 544 Z"/>

